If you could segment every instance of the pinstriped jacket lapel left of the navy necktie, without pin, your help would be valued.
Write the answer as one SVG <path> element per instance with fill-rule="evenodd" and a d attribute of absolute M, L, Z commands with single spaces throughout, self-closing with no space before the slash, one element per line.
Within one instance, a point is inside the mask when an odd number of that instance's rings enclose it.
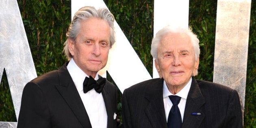
<path fill-rule="evenodd" d="M 163 79 L 158 79 L 148 86 L 145 98 L 149 104 L 145 108 L 145 113 L 153 128 L 167 128 L 165 108 L 163 105 Z"/>

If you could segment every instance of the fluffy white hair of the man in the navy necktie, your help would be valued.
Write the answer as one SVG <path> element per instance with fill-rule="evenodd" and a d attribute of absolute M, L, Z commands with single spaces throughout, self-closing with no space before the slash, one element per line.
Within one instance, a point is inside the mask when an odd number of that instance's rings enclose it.
<path fill-rule="evenodd" d="M 165 26 L 164 28 L 159 30 L 156 33 L 156 36 L 152 39 L 150 53 L 154 59 L 158 59 L 157 58 L 158 44 L 160 43 L 161 39 L 169 33 L 182 33 L 182 34 L 188 35 L 191 39 L 191 43 L 195 50 L 195 60 L 197 60 L 197 58 L 200 55 L 199 39 L 197 39 L 197 35 L 195 35 L 192 32 L 192 28 L 190 28 L 190 27 L 182 28 L 182 27 L 174 27 L 174 26 Z M 197 71 L 196 71 L 196 75 L 197 75 Z"/>

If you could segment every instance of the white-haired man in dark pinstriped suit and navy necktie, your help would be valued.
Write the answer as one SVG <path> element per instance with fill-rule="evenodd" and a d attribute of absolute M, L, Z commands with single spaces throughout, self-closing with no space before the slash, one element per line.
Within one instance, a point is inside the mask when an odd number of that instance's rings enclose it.
<path fill-rule="evenodd" d="M 190 29 L 166 26 L 152 40 L 160 78 L 124 90 L 124 128 L 242 128 L 236 90 L 195 80 L 199 40 Z"/>

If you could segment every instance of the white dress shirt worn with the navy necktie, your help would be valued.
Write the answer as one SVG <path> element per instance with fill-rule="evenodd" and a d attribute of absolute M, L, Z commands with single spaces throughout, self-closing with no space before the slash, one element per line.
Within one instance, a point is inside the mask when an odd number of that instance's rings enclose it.
<path fill-rule="evenodd" d="M 187 85 L 176 94 L 179 97 L 181 97 L 180 103 L 178 104 L 178 107 L 180 109 L 180 115 L 181 115 L 182 121 L 183 121 L 183 116 L 184 116 L 187 96 L 189 94 L 189 89 L 191 87 L 191 82 L 192 82 L 192 77 L 190 78 L 190 80 L 187 83 Z M 166 121 L 168 120 L 169 112 L 170 112 L 171 106 L 172 106 L 172 102 L 171 102 L 170 98 L 168 97 L 169 95 L 174 95 L 174 94 L 172 94 L 168 90 L 166 82 L 164 80 L 164 82 L 163 82 L 163 102 L 164 102 L 164 107 L 165 107 Z"/>

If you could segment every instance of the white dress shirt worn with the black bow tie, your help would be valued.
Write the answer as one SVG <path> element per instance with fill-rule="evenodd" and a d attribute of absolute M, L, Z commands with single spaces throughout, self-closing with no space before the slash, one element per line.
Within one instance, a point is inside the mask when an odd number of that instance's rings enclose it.
<path fill-rule="evenodd" d="M 94 89 L 84 93 L 83 82 L 85 77 L 89 78 L 89 76 L 76 65 L 73 59 L 69 61 L 67 70 L 76 85 L 76 89 L 85 106 L 92 128 L 107 128 L 108 116 L 102 93 L 99 94 Z M 94 79 L 98 80 L 98 73 Z"/>

